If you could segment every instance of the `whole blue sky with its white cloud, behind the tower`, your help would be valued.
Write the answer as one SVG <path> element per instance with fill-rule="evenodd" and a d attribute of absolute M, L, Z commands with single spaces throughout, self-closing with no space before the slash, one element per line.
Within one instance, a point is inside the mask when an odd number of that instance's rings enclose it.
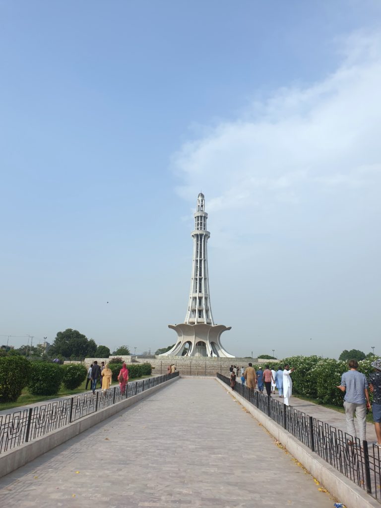
<path fill-rule="evenodd" d="M 380 14 L 0 2 L 0 341 L 173 343 L 202 188 L 228 351 L 376 346 Z"/>

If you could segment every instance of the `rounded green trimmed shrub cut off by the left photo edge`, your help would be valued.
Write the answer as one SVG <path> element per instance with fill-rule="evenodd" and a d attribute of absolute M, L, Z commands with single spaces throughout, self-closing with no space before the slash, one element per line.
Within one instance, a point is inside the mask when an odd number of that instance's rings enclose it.
<path fill-rule="evenodd" d="M 0 402 L 16 402 L 29 381 L 31 364 L 22 356 L 0 358 Z"/>

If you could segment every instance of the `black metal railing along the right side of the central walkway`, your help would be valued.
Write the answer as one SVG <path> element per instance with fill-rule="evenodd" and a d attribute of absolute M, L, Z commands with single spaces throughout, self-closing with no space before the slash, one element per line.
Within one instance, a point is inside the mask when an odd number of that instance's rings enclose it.
<path fill-rule="evenodd" d="M 230 386 L 229 377 L 219 373 L 216 376 Z M 361 442 L 357 437 L 240 383 L 235 384 L 235 391 L 381 502 L 381 449 L 375 444 Z"/>

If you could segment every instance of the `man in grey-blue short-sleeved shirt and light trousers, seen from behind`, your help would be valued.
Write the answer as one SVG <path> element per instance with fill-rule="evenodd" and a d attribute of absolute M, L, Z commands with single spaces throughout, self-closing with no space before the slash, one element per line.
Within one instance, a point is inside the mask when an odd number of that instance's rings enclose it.
<path fill-rule="evenodd" d="M 356 437 L 354 420 L 356 413 L 359 423 L 359 438 L 360 441 L 364 441 L 366 439 L 366 409 L 370 409 L 368 382 L 365 375 L 357 371 L 359 367 L 357 360 L 350 360 L 348 367 L 350 370 L 343 373 L 340 386 L 337 387 L 342 392 L 345 392 L 346 432 Z"/>

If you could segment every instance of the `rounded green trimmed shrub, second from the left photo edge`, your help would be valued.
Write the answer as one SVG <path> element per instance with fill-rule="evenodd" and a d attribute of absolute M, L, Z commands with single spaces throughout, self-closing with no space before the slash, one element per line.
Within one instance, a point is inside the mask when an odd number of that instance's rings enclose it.
<path fill-rule="evenodd" d="M 56 395 L 61 387 L 63 370 L 49 362 L 35 363 L 31 369 L 29 393 L 32 395 Z"/>

